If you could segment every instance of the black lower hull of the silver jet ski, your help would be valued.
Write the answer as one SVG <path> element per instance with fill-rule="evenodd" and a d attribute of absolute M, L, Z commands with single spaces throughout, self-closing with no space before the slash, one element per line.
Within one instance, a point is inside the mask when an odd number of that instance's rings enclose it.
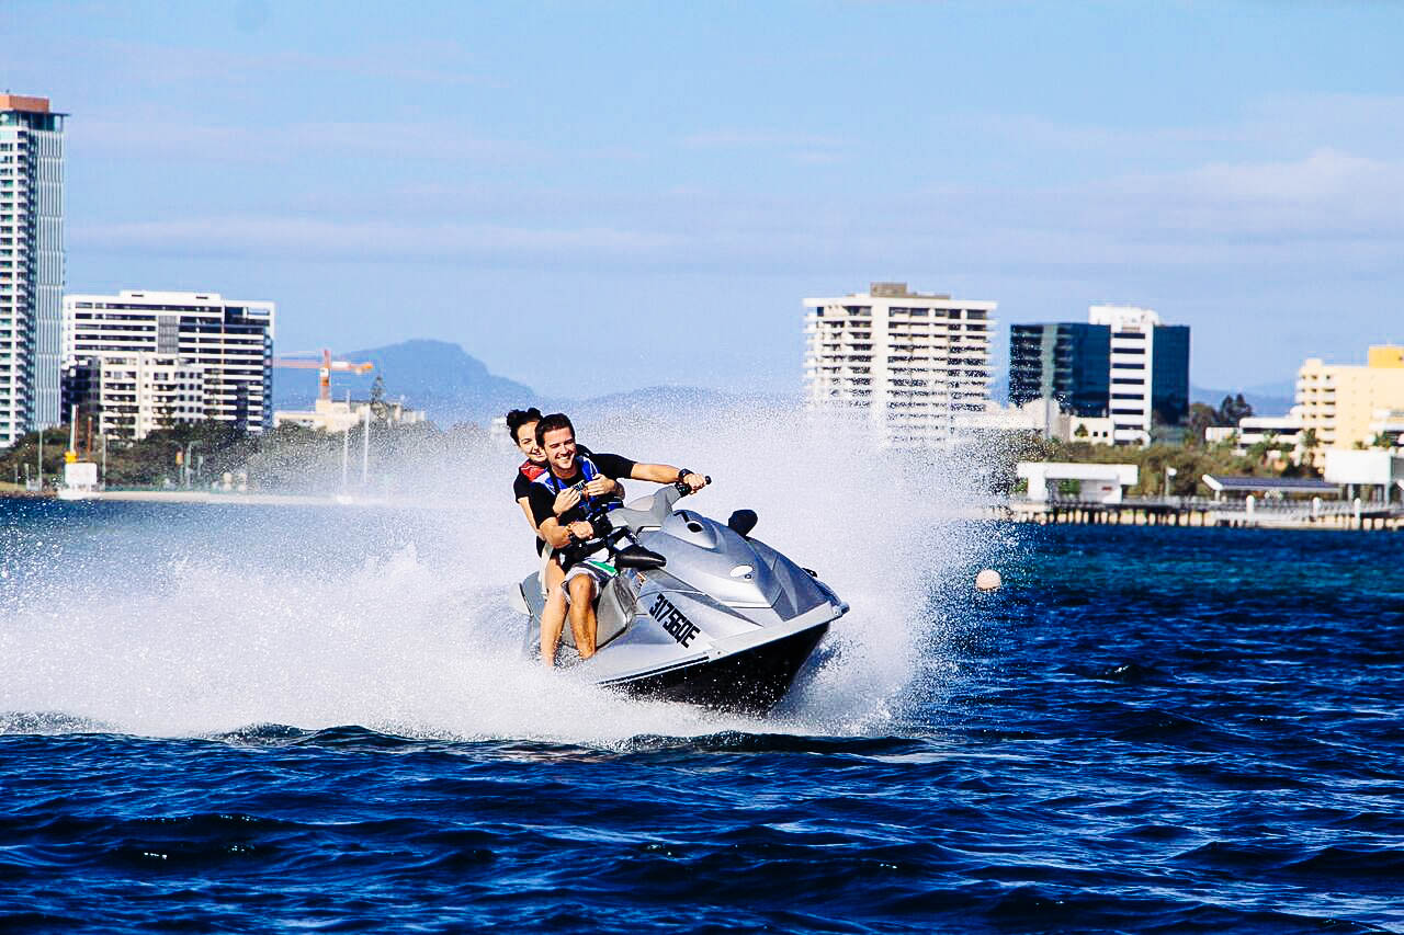
<path fill-rule="evenodd" d="M 636 698 L 764 715 L 789 691 L 800 667 L 827 632 L 828 623 L 819 623 L 720 658 L 604 684 Z"/>

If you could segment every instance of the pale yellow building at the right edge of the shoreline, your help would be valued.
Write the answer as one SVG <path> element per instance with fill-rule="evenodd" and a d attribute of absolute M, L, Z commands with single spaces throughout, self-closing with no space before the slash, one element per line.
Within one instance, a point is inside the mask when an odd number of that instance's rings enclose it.
<path fill-rule="evenodd" d="M 1365 366 L 1310 358 L 1297 371 L 1302 431 L 1314 430 L 1320 449 L 1369 446 L 1379 410 L 1404 409 L 1404 345 L 1370 348 Z"/>

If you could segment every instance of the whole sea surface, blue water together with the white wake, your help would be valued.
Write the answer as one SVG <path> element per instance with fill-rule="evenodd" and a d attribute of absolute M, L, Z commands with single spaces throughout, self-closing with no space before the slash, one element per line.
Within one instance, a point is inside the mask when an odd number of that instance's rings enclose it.
<path fill-rule="evenodd" d="M 1396 533 L 966 525 L 740 720 L 453 661 L 389 512 L 0 522 L 7 931 L 1404 931 Z"/>

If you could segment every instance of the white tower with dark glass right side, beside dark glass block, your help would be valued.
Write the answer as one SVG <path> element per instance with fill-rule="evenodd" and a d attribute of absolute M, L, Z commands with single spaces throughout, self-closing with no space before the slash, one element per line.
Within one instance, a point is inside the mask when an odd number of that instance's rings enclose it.
<path fill-rule="evenodd" d="M 1150 444 L 1151 427 L 1189 414 L 1189 327 L 1161 324 L 1150 309 L 1094 305 L 1091 324 L 1111 329 L 1111 402 L 1116 444 Z"/>

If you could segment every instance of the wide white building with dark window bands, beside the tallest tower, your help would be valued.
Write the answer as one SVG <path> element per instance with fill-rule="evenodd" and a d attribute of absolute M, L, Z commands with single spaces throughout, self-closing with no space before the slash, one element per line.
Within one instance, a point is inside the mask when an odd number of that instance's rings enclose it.
<path fill-rule="evenodd" d="M 63 358 L 76 365 L 97 359 L 107 368 L 105 358 L 149 354 L 198 368 L 204 417 L 261 432 L 272 424 L 274 312 L 272 302 L 213 292 L 69 295 Z"/>

